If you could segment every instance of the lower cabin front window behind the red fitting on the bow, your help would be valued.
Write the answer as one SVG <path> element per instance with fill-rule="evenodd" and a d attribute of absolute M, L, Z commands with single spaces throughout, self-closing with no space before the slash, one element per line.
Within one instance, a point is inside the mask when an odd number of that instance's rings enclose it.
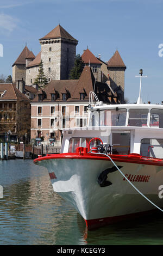
<path fill-rule="evenodd" d="M 76 152 L 78 147 L 87 148 L 91 138 L 71 138 L 69 141 L 68 153 Z"/>

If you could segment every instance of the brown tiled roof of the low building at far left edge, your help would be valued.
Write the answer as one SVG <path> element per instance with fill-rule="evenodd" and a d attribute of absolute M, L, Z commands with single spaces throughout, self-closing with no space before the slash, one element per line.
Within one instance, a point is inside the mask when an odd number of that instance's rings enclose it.
<path fill-rule="evenodd" d="M 0 83 L 0 91 L 5 92 L 3 97 L 0 97 L 0 101 L 5 101 L 5 100 L 26 100 L 29 101 L 26 95 L 20 92 L 16 88 L 16 84 L 12 83 Z"/>

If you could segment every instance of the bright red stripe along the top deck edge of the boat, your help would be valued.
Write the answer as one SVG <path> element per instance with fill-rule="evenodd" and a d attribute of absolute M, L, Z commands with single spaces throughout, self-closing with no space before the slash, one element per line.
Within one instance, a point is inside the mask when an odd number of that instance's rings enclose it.
<path fill-rule="evenodd" d="M 129 154 L 129 155 L 110 155 L 111 159 L 116 162 L 128 162 L 128 163 L 139 163 L 139 164 L 149 164 L 153 166 L 163 166 L 163 159 L 155 159 L 153 157 L 140 156 L 139 154 Z M 52 159 L 85 159 L 85 160 L 104 160 L 110 161 L 109 157 L 102 154 L 93 155 L 87 153 L 63 153 L 57 155 L 47 155 L 39 157 L 34 160 L 34 163 L 42 160 L 52 160 Z"/>

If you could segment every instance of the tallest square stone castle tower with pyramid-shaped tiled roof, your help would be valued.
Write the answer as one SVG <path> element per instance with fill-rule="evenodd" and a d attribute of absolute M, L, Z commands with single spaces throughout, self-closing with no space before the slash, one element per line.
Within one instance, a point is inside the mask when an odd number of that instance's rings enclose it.
<path fill-rule="evenodd" d="M 48 81 L 68 79 L 74 66 L 78 40 L 58 25 L 40 39 L 40 44 L 43 71 Z"/>

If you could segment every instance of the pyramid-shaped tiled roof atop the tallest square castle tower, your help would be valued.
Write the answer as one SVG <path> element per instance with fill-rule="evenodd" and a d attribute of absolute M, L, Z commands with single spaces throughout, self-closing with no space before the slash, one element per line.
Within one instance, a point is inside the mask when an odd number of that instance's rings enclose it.
<path fill-rule="evenodd" d="M 70 35 L 67 31 L 65 31 L 65 29 L 62 28 L 60 25 L 55 27 L 47 35 L 43 36 L 43 38 L 41 38 L 40 40 L 55 39 L 55 38 L 65 38 L 65 39 L 70 39 L 70 40 L 78 41 L 78 40 L 74 39 L 73 36 Z"/>

